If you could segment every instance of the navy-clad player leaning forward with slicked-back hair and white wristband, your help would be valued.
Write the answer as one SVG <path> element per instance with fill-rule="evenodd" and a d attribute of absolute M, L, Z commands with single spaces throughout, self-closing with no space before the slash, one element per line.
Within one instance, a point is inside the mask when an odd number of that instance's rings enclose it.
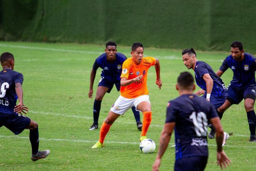
<path fill-rule="evenodd" d="M 182 52 L 182 60 L 188 69 L 194 70 L 195 81 L 203 90 L 195 92 L 196 95 L 204 94 L 204 99 L 209 101 L 217 110 L 224 104 L 227 97 L 227 89 L 220 77 L 215 74 L 210 65 L 203 61 L 198 61 L 193 48 L 184 49 Z M 218 113 L 220 119 L 223 113 Z M 214 139 L 215 131 L 211 124 L 209 125 L 211 132 L 208 135 L 209 139 Z M 228 139 L 228 134 L 224 132 L 224 138 Z"/>

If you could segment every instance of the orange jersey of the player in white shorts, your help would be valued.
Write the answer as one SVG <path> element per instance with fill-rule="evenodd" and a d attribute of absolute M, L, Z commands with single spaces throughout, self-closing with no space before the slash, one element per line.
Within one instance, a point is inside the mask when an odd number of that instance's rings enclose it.
<path fill-rule="evenodd" d="M 121 96 L 128 99 L 133 99 L 141 95 L 148 95 L 149 90 L 147 87 L 147 75 L 148 70 L 151 66 L 156 64 L 156 59 L 153 57 L 143 57 L 139 65 L 136 65 L 133 62 L 133 58 L 128 58 L 123 62 L 123 71 L 121 78 L 126 77 L 127 80 L 143 75 L 143 78 L 140 81 L 135 81 L 128 86 L 121 86 L 120 93 Z"/>

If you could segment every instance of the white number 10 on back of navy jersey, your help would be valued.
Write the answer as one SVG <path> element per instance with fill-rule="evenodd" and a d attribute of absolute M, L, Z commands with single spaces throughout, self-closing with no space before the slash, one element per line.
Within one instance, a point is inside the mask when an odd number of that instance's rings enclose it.
<path fill-rule="evenodd" d="M 208 126 L 208 120 L 206 117 L 206 114 L 204 112 L 199 112 L 196 114 L 196 112 L 193 112 L 190 116 L 190 119 L 192 119 L 194 123 L 194 131 L 196 132 L 197 136 L 207 136 L 207 126 Z"/>

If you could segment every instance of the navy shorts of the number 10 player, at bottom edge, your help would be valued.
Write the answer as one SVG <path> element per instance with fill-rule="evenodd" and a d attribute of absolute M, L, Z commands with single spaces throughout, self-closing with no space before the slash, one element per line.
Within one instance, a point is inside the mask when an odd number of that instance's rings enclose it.
<path fill-rule="evenodd" d="M 208 156 L 190 156 L 175 161 L 174 171 L 204 171 Z"/>

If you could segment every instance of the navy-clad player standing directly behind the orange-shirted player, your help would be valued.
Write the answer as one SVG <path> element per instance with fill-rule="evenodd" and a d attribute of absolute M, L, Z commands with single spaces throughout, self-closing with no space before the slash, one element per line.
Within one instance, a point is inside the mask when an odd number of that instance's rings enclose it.
<path fill-rule="evenodd" d="M 123 62 L 127 59 L 125 55 L 117 52 L 117 44 L 115 42 L 107 42 L 104 54 L 96 58 L 93 68 L 91 70 L 89 98 L 92 98 L 93 84 L 98 68 L 102 68 L 100 81 L 97 88 L 96 97 L 93 106 L 94 122 L 89 130 L 98 129 L 98 121 L 100 116 L 101 101 L 106 93 L 110 93 L 115 84 L 117 91 L 120 90 L 120 75 L 122 72 Z M 142 123 L 140 122 L 139 111 L 132 107 L 134 117 L 136 119 L 137 128 L 142 130 Z"/>

